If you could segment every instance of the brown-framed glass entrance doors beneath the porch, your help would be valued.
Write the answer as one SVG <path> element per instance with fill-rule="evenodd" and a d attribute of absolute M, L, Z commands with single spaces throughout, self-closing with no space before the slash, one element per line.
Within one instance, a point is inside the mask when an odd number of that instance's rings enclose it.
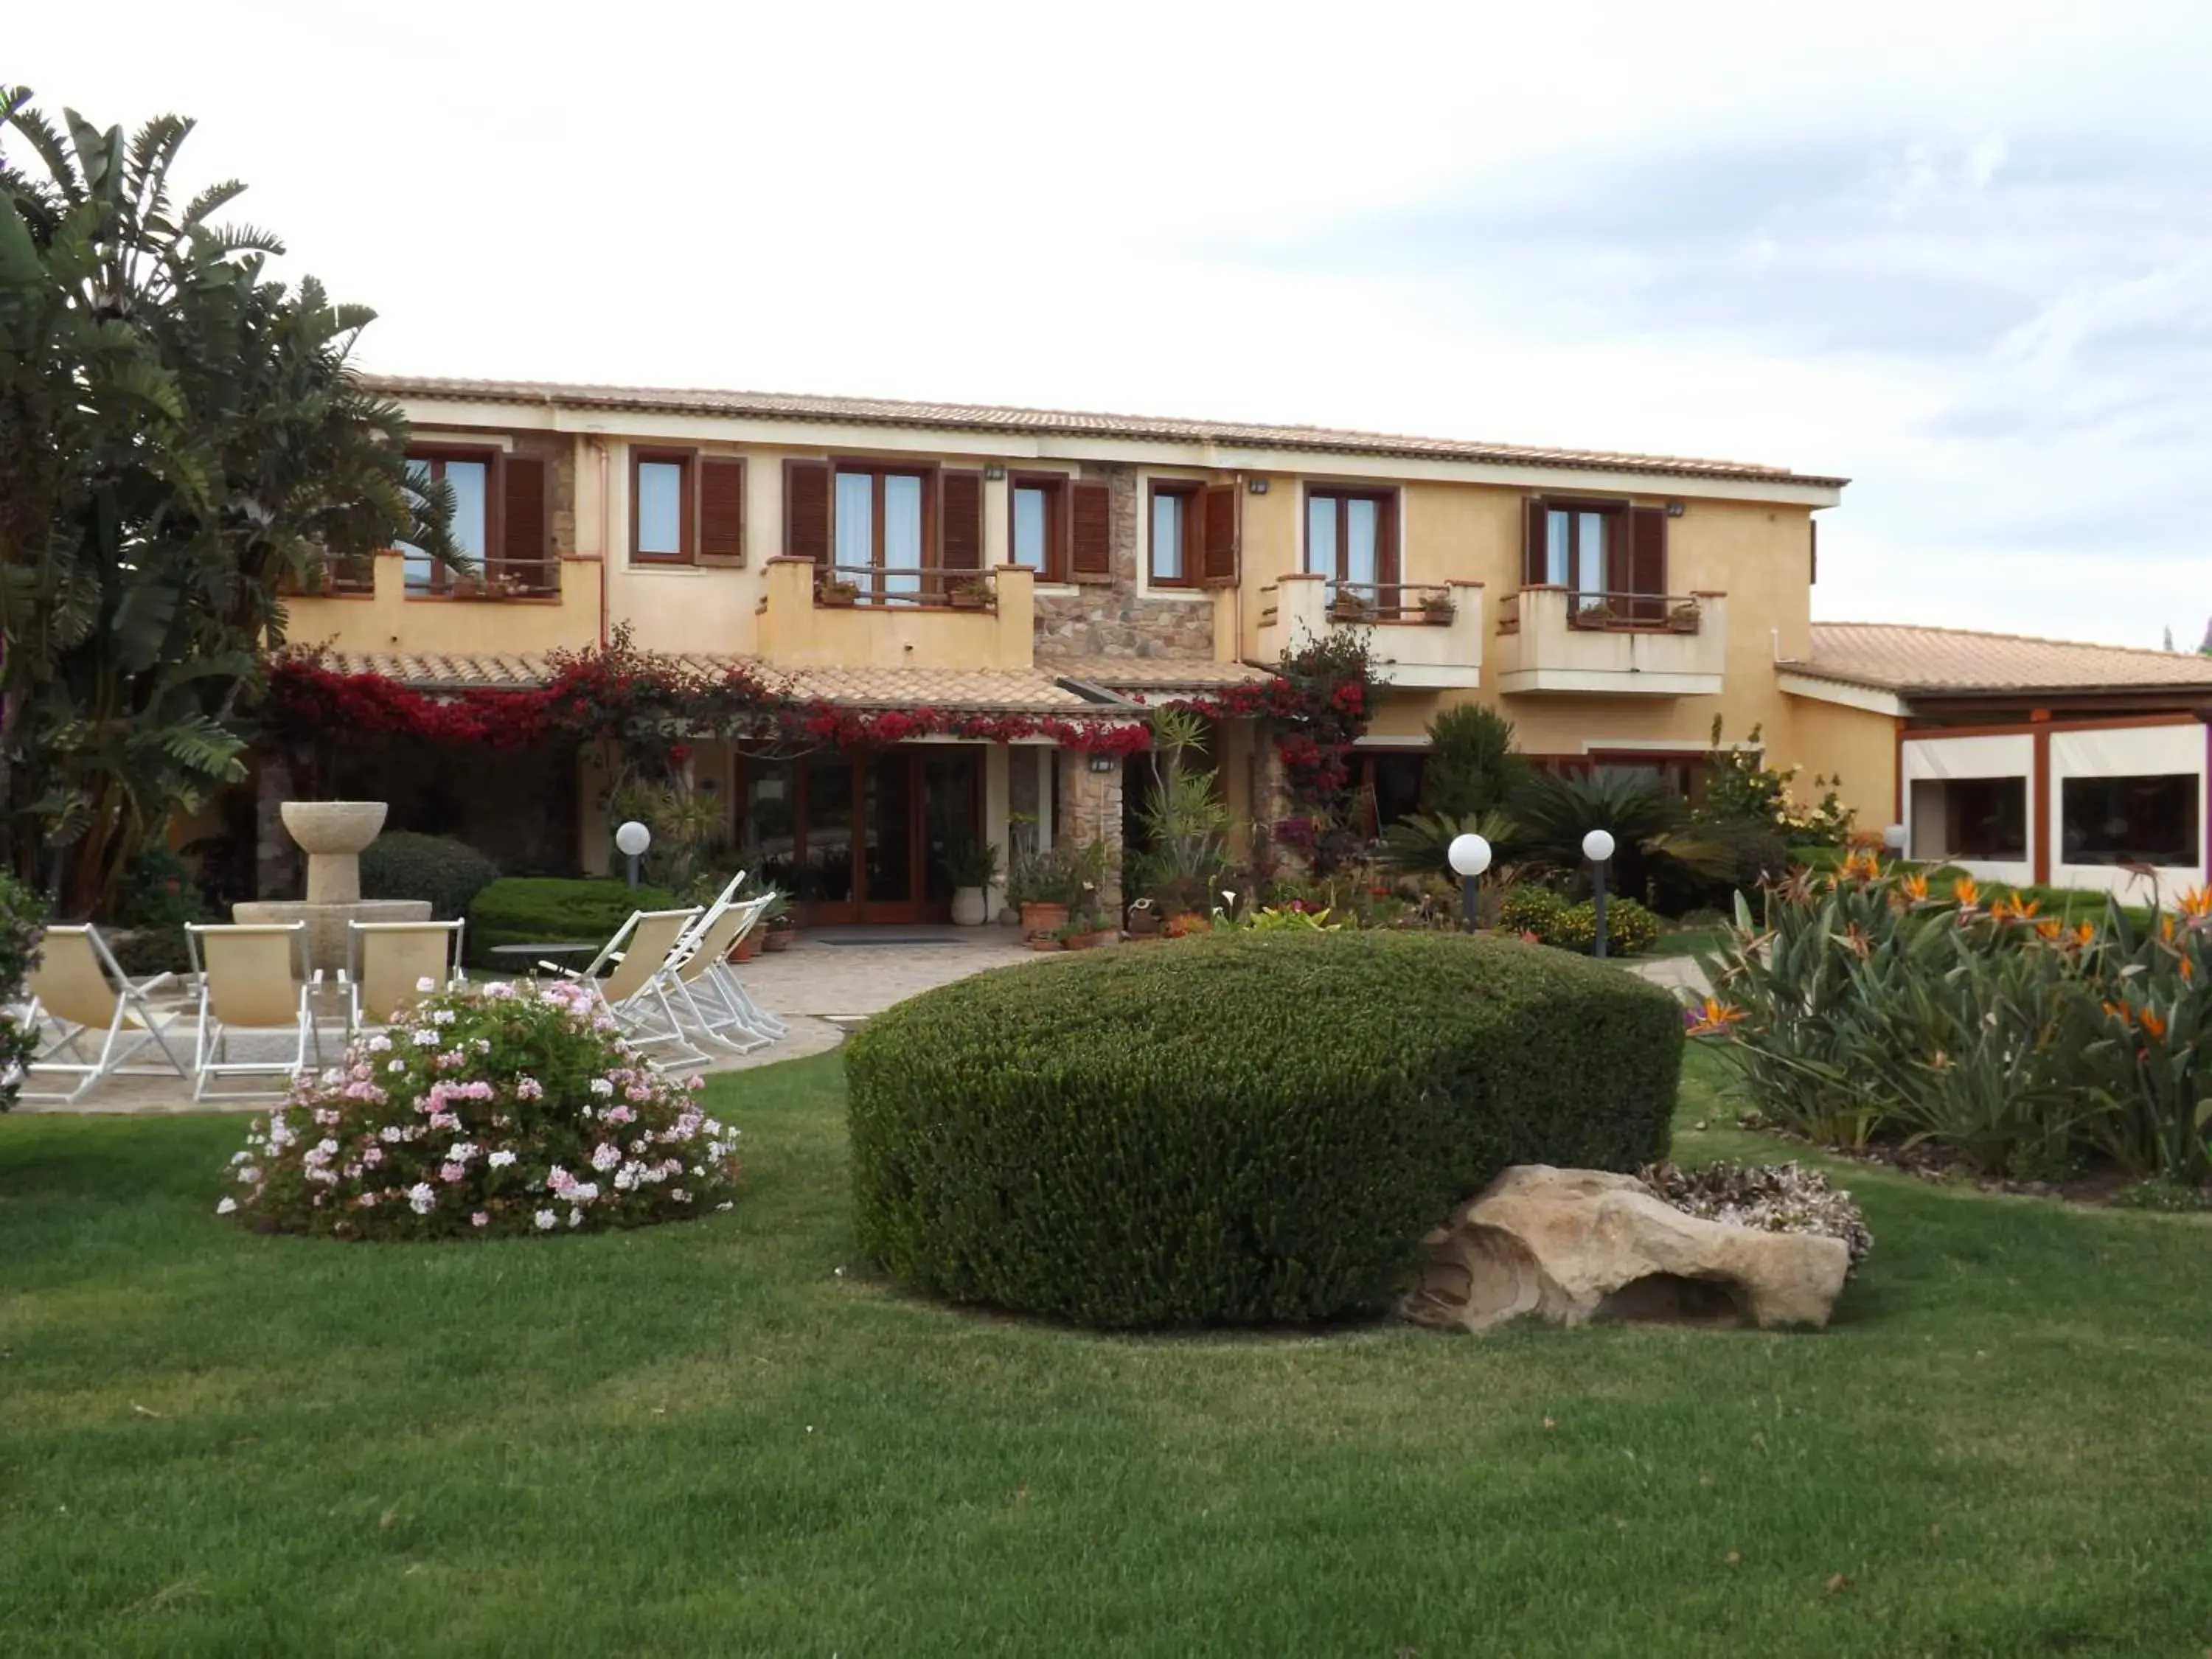
<path fill-rule="evenodd" d="M 805 922 L 951 920 L 951 858 L 982 834 L 982 750 L 823 750 L 741 768 L 745 867 L 792 891 Z"/>

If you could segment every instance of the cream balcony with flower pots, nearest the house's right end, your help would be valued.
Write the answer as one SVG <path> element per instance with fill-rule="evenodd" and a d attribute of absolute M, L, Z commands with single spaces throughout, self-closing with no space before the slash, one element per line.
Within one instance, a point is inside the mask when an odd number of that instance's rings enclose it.
<path fill-rule="evenodd" d="M 1522 588 L 1498 606 L 1498 690 L 1710 697 L 1728 668 L 1725 593 Z"/>

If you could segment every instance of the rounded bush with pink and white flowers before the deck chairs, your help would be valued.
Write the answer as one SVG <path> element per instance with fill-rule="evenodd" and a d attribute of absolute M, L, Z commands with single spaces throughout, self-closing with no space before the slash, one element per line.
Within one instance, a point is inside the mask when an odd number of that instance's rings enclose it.
<path fill-rule="evenodd" d="M 453 1239 L 728 1210 L 737 1130 L 571 984 L 434 995 L 301 1077 L 230 1159 L 219 1214 L 272 1232 Z"/>

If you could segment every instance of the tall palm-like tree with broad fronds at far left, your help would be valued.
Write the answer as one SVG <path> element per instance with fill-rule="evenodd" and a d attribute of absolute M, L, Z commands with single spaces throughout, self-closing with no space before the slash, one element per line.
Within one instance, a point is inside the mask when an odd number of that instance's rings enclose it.
<path fill-rule="evenodd" d="M 349 356 L 372 312 L 265 276 L 265 230 L 170 192 L 192 124 L 137 137 L 0 88 L 0 832 L 95 909 L 170 816 L 243 776 L 281 593 L 409 540 L 449 564 L 400 411 Z"/>

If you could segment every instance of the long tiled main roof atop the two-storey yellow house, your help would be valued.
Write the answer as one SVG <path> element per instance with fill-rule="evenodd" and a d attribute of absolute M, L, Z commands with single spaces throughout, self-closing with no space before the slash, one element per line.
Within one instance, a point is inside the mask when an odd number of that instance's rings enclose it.
<path fill-rule="evenodd" d="M 1663 478 L 1732 478 L 1767 484 L 1840 489 L 1847 478 L 1794 473 L 1747 460 L 1699 456 L 1639 456 L 1613 449 L 1548 449 L 1533 445 L 1413 438 L 1394 431 L 1338 427 L 1270 427 L 1245 420 L 1186 420 L 1177 416 L 1091 414 L 1082 409 L 1015 409 L 978 403 L 909 403 L 898 398 L 825 398 L 792 392 L 708 392 L 686 387 L 564 385 L 560 380 L 462 380 L 449 376 L 374 374 L 367 385 L 389 398 L 456 403 L 529 403 L 568 409 L 639 409 L 657 414 L 750 416 L 770 420 L 834 420 L 872 427 L 953 427 L 960 431 L 1053 434 L 1066 438 L 1135 438 L 1157 442 L 1232 445 L 1250 449 L 1314 449 L 1347 456 L 1407 460 L 1469 460 L 1502 467 L 1573 467 Z"/>

